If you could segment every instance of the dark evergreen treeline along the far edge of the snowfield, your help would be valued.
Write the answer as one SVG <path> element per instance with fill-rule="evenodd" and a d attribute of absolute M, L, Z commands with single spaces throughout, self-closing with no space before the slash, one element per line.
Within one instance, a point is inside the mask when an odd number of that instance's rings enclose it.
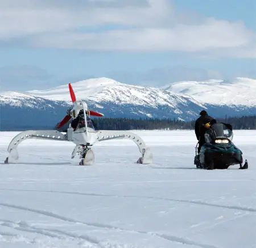
<path fill-rule="evenodd" d="M 256 116 L 228 117 L 217 119 L 229 123 L 233 129 L 256 129 Z M 181 121 L 176 119 L 127 119 L 127 118 L 97 118 L 93 120 L 96 129 L 134 130 L 134 129 L 193 129 L 195 120 Z"/>

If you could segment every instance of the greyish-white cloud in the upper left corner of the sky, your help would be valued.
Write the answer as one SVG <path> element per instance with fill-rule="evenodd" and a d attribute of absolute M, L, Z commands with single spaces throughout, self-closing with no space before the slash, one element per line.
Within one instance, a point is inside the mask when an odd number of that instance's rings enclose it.
<path fill-rule="evenodd" d="M 130 4 L 127 7 L 123 6 L 127 5 L 128 0 L 72 2 L 73 5 L 70 1 L 63 4 L 60 0 L 0 0 L 0 23 L 5 23 L 0 26 L 0 37 L 10 39 L 34 33 L 111 24 L 154 26 L 163 22 L 171 8 L 166 0 L 148 0 L 148 6 Z"/>

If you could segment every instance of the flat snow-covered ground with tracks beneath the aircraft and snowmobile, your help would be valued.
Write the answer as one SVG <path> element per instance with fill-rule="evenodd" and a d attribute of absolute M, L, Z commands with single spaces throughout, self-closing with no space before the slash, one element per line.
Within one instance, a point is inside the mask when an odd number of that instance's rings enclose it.
<path fill-rule="evenodd" d="M 256 247 L 256 131 L 234 131 L 249 169 L 197 170 L 192 131 L 136 131 L 154 163 L 134 163 L 131 141 L 94 146 L 76 166 L 73 144 L 29 140 L 0 166 L 0 247 Z M 14 132 L 0 132 L 0 160 Z"/>

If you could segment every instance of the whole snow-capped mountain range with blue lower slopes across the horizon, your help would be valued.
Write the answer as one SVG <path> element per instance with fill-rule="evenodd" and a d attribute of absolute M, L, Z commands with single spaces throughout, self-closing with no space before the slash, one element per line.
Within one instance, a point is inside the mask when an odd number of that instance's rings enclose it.
<path fill-rule="evenodd" d="M 176 82 L 161 89 L 92 78 L 72 86 L 77 99 L 86 100 L 90 109 L 106 117 L 191 120 L 202 109 L 215 117 L 256 114 L 256 80 L 249 78 L 237 78 L 234 82 Z M 3 124 L 6 127 L 6 123 L 15 127 L 54 127 L 70 104 L 68 84 L 26 93 L 0 93 L 0 128 Z"/>

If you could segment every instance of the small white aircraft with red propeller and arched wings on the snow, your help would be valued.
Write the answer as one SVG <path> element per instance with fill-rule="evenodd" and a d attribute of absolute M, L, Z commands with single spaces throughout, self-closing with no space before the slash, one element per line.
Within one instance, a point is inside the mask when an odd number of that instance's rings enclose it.
<path fill-rule="evenodd" d="M 37 130 L 37 131 L 24 131 L 16 135 L 13 140 L 11 140 L 7 151 L 9 152 L 9 157 L 5 159 L 5 163 L 15 163 L 19 159 L 19 154 L 17 147 L 20 142 L 34 138 L 40 140 L 55 140 L 55 141 L 69 141 L 75 143 L 75 148 L 71 154 L 71 158 L 77 155 L 80 156 L 81 161 L 79 165 L 93 165 L 95 157 L 91 147 L 100 141 L 108 140 L 119 140 L 119 139 L 129 139 L 138 146 L 139 152 L 141 152 L 141 157 L 137 160 L 137 163 L 148 165 L 152 163 L 152 153 L 150 149 L 147 148 L 146 144 L 137 134 L 130 131 L 110 131 L 102 130 L 96 131 L 93 127 L 90 116 L 104 116 L 101 113 L 88 110 L 88 106 L 85 102 L 81 100 L 76 100 L 76 95 L 73 91 L 71 83 L 69 83 L 69 93 L 72 99 L 72 107 L 67 111 L 67 115 L 63 120 L 57 125 L 56 129 L 63 127 L 70 120 L 79 120 L 77 122 L 77 127 L 72 127 L 72 122 L 69 123 L 67 132 L 59 132 L 57 130 Z"/>

